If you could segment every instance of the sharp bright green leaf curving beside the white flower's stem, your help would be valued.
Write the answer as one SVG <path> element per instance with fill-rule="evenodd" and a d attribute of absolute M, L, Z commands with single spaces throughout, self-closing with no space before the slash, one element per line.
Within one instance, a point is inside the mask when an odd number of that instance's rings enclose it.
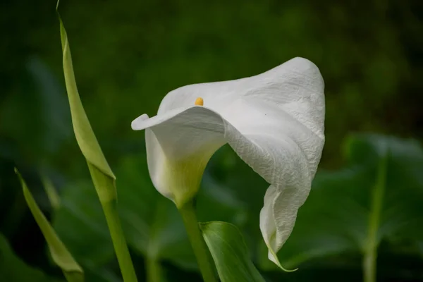
<path fill-rule="evenodd" d="M 211 221 L 201 223 L 201 230 L 222 282 L 264 282 L 252 264 L 243 235 L 236 226 Z"/>

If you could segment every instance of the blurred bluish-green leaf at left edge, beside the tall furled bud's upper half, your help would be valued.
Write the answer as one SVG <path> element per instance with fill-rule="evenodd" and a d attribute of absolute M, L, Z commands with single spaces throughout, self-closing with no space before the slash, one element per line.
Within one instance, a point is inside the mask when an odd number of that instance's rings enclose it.
<path fill-rule="evenodd" d="M 6 153 L 17 161 L 22 157 L 51 159 L 71 136 L 71 114 L 59 80 L 47 63 L 30 56 L 16 81 L 13 91 L 2 95 L 0 131 L 2 141 L 13 140 L 19 151 Z"/>

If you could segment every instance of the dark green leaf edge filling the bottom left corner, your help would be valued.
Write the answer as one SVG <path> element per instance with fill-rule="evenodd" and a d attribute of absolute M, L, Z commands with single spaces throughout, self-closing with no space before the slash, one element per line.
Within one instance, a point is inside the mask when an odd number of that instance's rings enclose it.
<path fill-rule="evenodd" d="M 53 282 L 39 269 L 32 268 L 13 253 L 4 235 L 0 233 L 0 281 Z"/>

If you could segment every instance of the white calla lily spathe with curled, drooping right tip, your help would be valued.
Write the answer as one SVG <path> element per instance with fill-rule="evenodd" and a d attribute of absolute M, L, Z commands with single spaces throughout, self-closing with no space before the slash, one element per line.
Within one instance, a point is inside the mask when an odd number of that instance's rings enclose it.
<path fill-rule="evenodd" d="M 195 105 L 198 97 L 204 106 Z M 146 130 L 152 182 L 178 207 L 197 193 L 210 157 L 228 143 L 270 183 L 260 229 L 269 259 L 280 266 L 276 252 L 293 230 L 320 161 L 324 109 L 319 68 L 294 58 L 250 78 L 173 90 L 157 116 L 144 114 L 132 128 Z"/>

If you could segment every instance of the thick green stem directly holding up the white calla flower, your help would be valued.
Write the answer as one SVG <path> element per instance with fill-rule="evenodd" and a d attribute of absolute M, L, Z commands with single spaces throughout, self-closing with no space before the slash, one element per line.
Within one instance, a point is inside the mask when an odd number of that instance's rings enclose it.
<path fill-rule="evenodd" d="M 179 213 L 182 216 L 185 229 L 190 238 L 192 250 L 194 250 L 195 257 L 197 258 L 198 266 L 202 274 L 204 282 L 216 282 L 216 276 L 214 276 L 214 264 L 212 263 L 212 257 L 209 253 L 200 227 L 198 226 L 197 216 L 195 215 L 194 204 L 192 201 L 187 202 L 183 207 L 179 208 Z"/>

